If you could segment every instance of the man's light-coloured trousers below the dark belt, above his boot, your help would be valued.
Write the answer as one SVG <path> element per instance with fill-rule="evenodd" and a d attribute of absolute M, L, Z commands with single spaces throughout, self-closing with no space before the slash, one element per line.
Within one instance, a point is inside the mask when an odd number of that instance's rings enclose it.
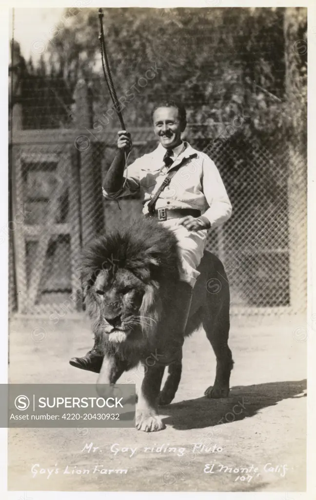
<path fill-rule="evenodd" d="M 160 222 L 173 231 L 178 239 L 180 263 L 180 279 L 190 283 L 193 287 L 200 272 L 197 267 L 203 257 L 207 229 L 189 231 L 184 225 L 179 224 L 179 219 L 168 219 Z"/>

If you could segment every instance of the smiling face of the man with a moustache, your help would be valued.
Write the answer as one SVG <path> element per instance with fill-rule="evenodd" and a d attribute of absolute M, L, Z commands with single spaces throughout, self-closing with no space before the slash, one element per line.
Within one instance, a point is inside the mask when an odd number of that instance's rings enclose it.
<path fill-rule="evenodd" d="M 166 149 L 180 144 L 185 125 L 180 121 L 176 107 L 158 107 L 154 111 L 153 124 L 155 134 Z"/>

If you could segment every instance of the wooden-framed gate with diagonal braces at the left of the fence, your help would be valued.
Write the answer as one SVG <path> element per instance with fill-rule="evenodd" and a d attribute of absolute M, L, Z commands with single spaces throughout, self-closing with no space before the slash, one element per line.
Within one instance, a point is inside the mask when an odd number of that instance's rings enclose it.
<path fill-rule="evenodd" d="M 81 309 L 80 184 L 68 143 L 12 147 L 12 221 L 19 313 L 47 313 L 71 297 Z M 49 299 L 47 300 L 47 298 Z"/>

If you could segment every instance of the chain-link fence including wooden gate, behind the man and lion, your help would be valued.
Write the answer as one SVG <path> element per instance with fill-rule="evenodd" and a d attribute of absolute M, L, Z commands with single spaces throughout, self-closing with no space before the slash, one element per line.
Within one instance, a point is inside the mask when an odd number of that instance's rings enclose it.
<path fill-rule="evenodd" d="M 132 131 L 132 136 L 129 161 L 156 146 L 151 129 Z M 291 157 L 283 134 L 255 137 L 241 129 L 225 138 L 192 134 L 187 139 L 214 160 L 233 205 L 229 221 L 210 230 L 207 242 L 207 249 L 226 267 L 232 310 L 304 312 L 304 156 L 294 148 Z M 15 275 L 23 312 L 54 312 L 67 302 L 68 311 L 80 309 L 81 247 L 96 234 L 115 230 L 121 221 L 132 223 L 141 216 L 137 196 L 117 201 L 100 198 L 102 178 L 115 152 L 115 131 L 106 142 L 83 140 L 82 150 L 76 144 L 77 148 L 74 141 L 13 146 L 15 273 L 11 262 L 10 279 Z"/>

